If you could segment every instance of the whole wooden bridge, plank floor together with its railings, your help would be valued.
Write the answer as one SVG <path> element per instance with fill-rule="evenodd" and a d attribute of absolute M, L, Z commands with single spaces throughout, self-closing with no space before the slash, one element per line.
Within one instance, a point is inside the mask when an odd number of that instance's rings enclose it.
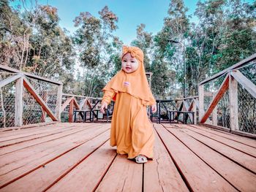
<path fill-rule="evenodd" d="M 256 191 L 255 61 L 200 82 L 198 96 L 159 100 L 147 164 L 110 147 L 99 98 L 0 65 L 0 192 Z"/>

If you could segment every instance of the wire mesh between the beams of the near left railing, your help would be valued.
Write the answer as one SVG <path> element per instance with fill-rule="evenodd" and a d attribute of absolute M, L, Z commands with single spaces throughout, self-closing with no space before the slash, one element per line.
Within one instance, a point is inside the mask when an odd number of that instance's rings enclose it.
<path fill-rule="evenodd" d="M 7 81 L 7 78 L 17 74 L 17 72 L 7 72 L 4 71 L 4 69 L 1 69 L 0 81 Z M 31 85 L 29 90 L 35 91 L 37 96 L 45 101 L 48 109 L 55 114 L 59 85 L 50 83 L 48 81 L 39 80 L 37 78 L 26 77 L 26 75 L 22 74 L 22 72 L 20 72 L 18 75 L 20 74 L 23 75 L 23 78 L 26 78 Z M 6 85 L 4 84 L 0 88 L 0 128 L 15 126 L 15 100 L 17 100 L 15 83 L 16 80 L 13 80 Z M 22 92 L 22 95 L 19 95 L 18 97 L 20 97 L 22 100 L 23 125 L 52 121 L 47 113 L 42 109 L 42 106 L 37 102 L 34 96 L 31 95 L 27 88 L 25 88 L 25 86 L 23 87 Z"/>

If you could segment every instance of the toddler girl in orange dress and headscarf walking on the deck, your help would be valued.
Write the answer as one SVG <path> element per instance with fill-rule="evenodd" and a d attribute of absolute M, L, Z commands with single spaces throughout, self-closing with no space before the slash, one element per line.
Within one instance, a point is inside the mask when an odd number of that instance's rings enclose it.
<path fill-rule="evenodd" d="M 101 112 L 115 101 L 110 131 L 110 145 L 118 154 L 128 154 L 138 164 L 153 158 L 154 132 L 148 120 L 146 106 L 157 111 L 156 101 L 146 79 L 143 51 L 138 47 L 123 47 L 121 71 L 103 88 Z"/>

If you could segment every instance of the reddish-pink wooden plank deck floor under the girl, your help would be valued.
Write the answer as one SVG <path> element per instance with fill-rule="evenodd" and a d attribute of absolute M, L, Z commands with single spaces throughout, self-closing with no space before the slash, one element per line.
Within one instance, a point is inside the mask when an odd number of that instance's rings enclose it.
<path fill-rule="evenodd" d="M 110 124 L 0 131 L 0 191 L 256 191 L 256 140 L 154 124 L 154 161 L 109 145 Z"/>

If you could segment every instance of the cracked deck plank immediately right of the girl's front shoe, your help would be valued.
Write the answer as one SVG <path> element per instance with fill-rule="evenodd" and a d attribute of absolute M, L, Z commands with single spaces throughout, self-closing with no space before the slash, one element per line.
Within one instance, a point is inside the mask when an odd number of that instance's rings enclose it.
<path fill-rule="evenodd" d="M 165 146 L 154 132 L 154 161 L 144 164 L 144 191 L 189 191 Z"/>

